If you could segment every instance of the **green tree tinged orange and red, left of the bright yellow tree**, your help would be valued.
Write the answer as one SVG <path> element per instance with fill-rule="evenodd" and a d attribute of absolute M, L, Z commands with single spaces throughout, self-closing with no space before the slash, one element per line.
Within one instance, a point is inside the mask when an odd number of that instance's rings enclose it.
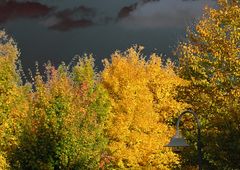
<path fill-rule="evenodd" d="M 72 68 L 46 66 L 30 96 L 30 112 L 15 151 L 16 169 L 98 169 L 106 147 L 105 120 L 110 105 L 98 83 L 93 59 Z"/>

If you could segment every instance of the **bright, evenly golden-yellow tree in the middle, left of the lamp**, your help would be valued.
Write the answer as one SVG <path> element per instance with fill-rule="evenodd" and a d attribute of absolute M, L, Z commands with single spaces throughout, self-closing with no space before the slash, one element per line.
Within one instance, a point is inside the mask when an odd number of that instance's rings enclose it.
<path fill-rule="evenodd" d="M 174 100 L 183 85 L 169 63 L 155 54 L 147 62 L 141 48 L 116 52 L 105 60 L 102 83 L 108 90 L 112 114 L 108 125 L 109 149 L 118 168 L 170 169 L 179 157 L 164 145 L 174 130 L 166 123 L 184 108 Z"/>

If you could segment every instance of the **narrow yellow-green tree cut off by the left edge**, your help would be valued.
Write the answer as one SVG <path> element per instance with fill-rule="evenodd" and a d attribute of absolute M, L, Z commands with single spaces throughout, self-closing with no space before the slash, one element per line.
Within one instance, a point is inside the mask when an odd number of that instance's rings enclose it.
<path fill-rule="evenodd" d="M 0 31 L 0 152 L 8 154 L 18 145 L 28 110 L 27 89 L 16 70 L 18 55 L 13 39 Z"/>

